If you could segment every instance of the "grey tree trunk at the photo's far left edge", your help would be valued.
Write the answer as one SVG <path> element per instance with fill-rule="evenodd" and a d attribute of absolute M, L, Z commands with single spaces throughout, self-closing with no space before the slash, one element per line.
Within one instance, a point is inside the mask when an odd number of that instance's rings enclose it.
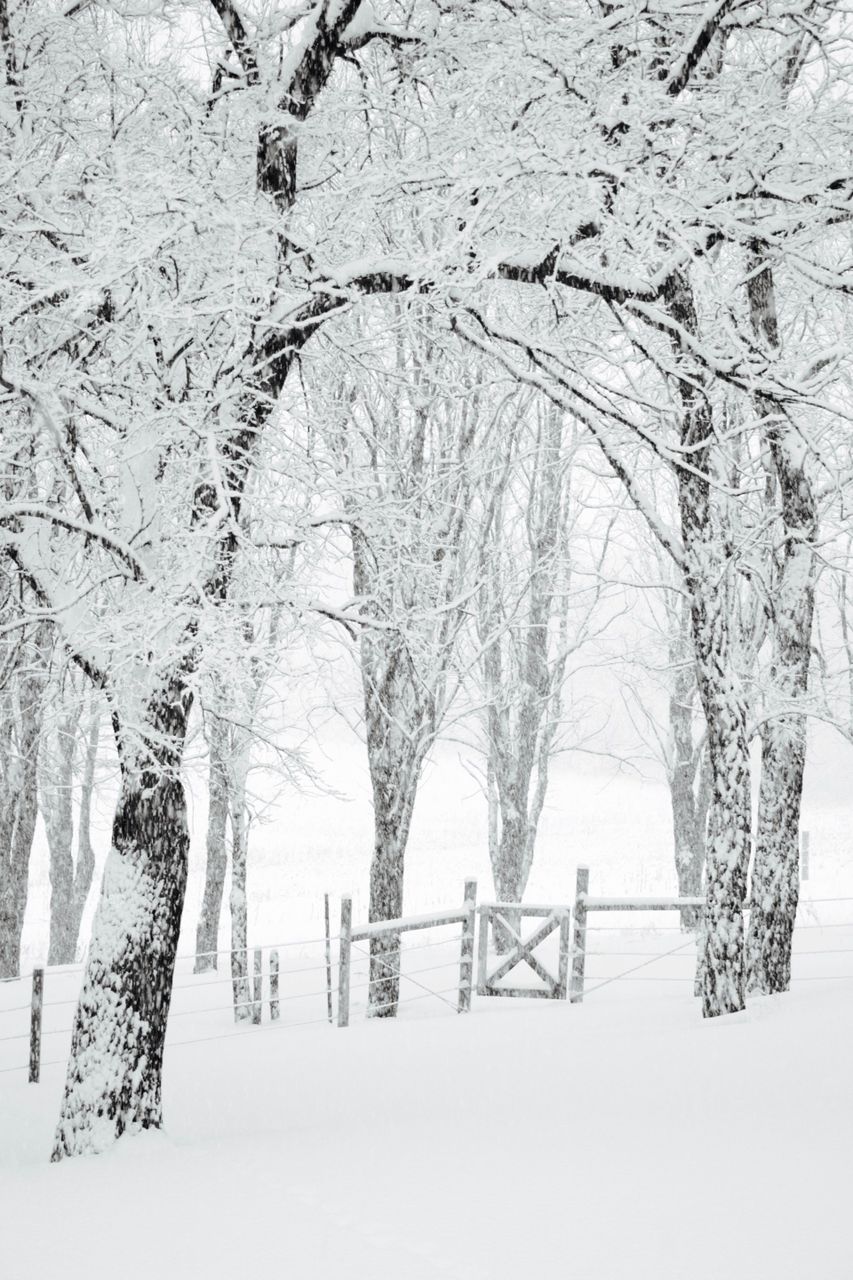
<path fill-rule="evenodd" d="M 12 675 L 3 723 L 0 795 L 0 978 L 20 973 L 20 938 L 27 909 L 29 855 L 38 813 L 38 739 L 44 716 L 47 628 L 24 649 L 24 664 Z"/>

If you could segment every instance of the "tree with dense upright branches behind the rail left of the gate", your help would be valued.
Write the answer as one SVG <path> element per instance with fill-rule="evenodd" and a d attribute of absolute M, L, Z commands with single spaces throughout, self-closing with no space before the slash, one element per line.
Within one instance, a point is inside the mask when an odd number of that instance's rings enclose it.
<path fill-rule="evenodd" d="M 401 310 L 362 353 L 359 384 L 327 415 L 351 534 L 353 599 L 373 787 L 370 919 L 402 915 L 406 845 L 428 751 L 460 686 L 460 635 L 476 591 L 479 494 L 506 388 L 464 358 L 429 314 Z M 334 422 L 334 434 L 330 424 Z M 370 946 L 371 1016 L 394 1016 L 400 940 Z"/>

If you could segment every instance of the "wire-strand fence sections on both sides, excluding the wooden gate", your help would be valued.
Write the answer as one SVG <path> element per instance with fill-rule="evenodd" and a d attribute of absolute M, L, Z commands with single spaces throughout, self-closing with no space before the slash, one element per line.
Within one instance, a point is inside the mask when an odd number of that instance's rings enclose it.
<path fill-rule="evenodd" d="M 853 918 L 841 920 L 811 918 L 817 906 L 850 902 L 853 902 L 853 896 L 803 901 L 802 906 L 807 918 L 802 924 L 798 923 L 794 931 L 792 978 L 794 984 L 853 982 L 853 961 L 843 959 L 853 956 Z M 853 911 L 849 914 L 853 916 Z M 848 931 L 849 937 L 831 933 L 826 938 L 829 946 L 820 946 L 820 943 L 816 946 L 818 940 L 812 937 L 815 929 Z M 804 945 L 799 946 L 798 937 L 804 931 L 809 931 L 809 933 L 802 940 Z M 603 988 L 612 989 L 616 984 L 622 983 L 644 983 L 652 987 L 661 984 L 662 989 L 674 992 L 692 988 L 695 972 L 695 937 L 693 934 L 685 936 L 680 925 L 611 923 L 588 925 L 587 932 L 598 936 L 601 942 L 592 938 L 592 946 L 588 946 L 585 952 L 590 970 L 585 974 L 584 996 L 592 996 Z M 672 933 L 680 936 L 678 945 L 662 947 L 660 943 Z M 352 943 L 350 991 L 355 996 L 355 1009 L 364 1011 L 366 1007 L 370 1014 L 380 1014 L 392 1006 L 401 1007 L 415 1002 L 434 1001 L 456 1010 L 455 1001 L 448 997 L 459 993 L 459 980 L 452 986 L 444 986 L 435 975 L 444 970 L 459 972 L 459 934 L 453 938 L 442 937 L 425 941 L 420 941 L 420 937 L 423 934 L 418 936 L 418 941 L 414 937 L 406 937 L 405 941 L 401 940 L 398 946 L 389 951 L 378 951 L 373 957 L 366 943 L 362 946 Z M 167 1052 L 191 1044 L 246 1038 L 266 1030 L 329 1025 L 333 1021 L 333 1001 L 338 997 L 338 956 L 329 954 L 328 959 L 320 960 L 319 956 L 310 954 L 311 948 L 325 946 L 327 941 L 329 952 L 332 952 L 332 945 L 337 947 L 339 937 L 336 934 L 329 940 L 325 937 L 288 940 L 264 947 L 252 947 L 246 952 L 241 951 L 236 974 L 223 974 L 219 969 L 187 973 L 177 968 L 167 1029 Z M 439 955 L 432 960 L 429 954 L 439 947 L 446 948 L 447 957 Z M 307 954 L 297 956 L 295 952 L 298 948 Z M 420 952 L 425 952 L 423 956 L 425 964 L 421 963 Z M 233 955 L 233 951 L 222 948 L 216 952 L 205 952 L 202 959 L 214 956 L 216 960 L 220 957 L 231 959 Z M 282 955 L 289 955 L 300 963 L 282 966 Z M 260 960 L 256 956 L 260 956 Z M 313 961 L 315 957 L 316 964 L 304 963 L 305 960 Z M 182 952 L 177 957 L 181 964 L 192 963 L 193 966 L 199 959 L 195 952 Z M 625 966 L 625 961 L 635 963 Z M 370 1004 L 368 997 L 371 987 L 375 987 L 382 995 L 383 970 L 387 978 L 398 980 L 398 996 L 393 1001 Z M 83 965 L 50 966 L 41 972 L 45 977 L 45 998 L 40 998 L 38 1002 L 38 1046 L 41 1047 L 44 1041 L 54 1047 L 50 1057 L 40 1059 L 38 1069 L 46 1070 L 64 1066 L 67 1062 L 67 1052 L 63 1053 L 61 1050 L 70 1046 Z M 330 978 L 325 983 L 316 979 L 316 975 L 324 972 Z M 33 1043 L 33 1000 L 27 997 L 31 996 L 31 991 L 36 989 L 35 974 L 29 972 L 18 977 L 3 978 L 0 982 L 3 983 L 0 986 L 0 1075 L 24 1074 L 32 1069 L 23 1046 L 26 1042 L 29 1042 L 31 1046 Z M 223 1000 L 224 987 L 229 987 L 234 993 L 231 1001 Z M 14 1004 L 4 1004 L 4 993 L 8 993 Z M 323 1011 L 320 1012 L 320 1010 Z M 311 1016 L 302 1016 L 302 1014 L 309 1012 Z M 207 1019 L 223 1019 L 225 1015 L 233 1019 L 228 1029 L 215 1025 L 211 1025 L 209 1032 L 205 1029 Z M 193 1025 L 196 1021 L 199 1027 Z M 67 1039 L 67 1046 L 61 1044 L 63 1037 Z"/>

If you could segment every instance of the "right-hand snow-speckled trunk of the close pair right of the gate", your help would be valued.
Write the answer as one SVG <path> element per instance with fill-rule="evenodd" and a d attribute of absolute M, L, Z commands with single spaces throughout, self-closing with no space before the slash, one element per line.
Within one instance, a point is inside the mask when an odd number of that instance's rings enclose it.
<path fill-rule="evenodd" d="M 747 292 L 753 330 L 770 351 L 777 351 L 774 278 L 770 266 L 763 265 L 762 269 L 761 246 L 754 246 L 749 268 Z M 766 397 L 756 398 L 756 410 L 770 447 L 784 532 L 774 584 L 771 698 L 790 707 L 802 701 L 808 690 L 817 504 L 806 471 L 806 451 L 795 428 Z M 747 956 L 749 988 L 781 992 L 790 986 L 799 901 L 806 717 L 795 710 L 777 713 L 772 707 L 771 713 L 761 732 L 761 786 Z"/>

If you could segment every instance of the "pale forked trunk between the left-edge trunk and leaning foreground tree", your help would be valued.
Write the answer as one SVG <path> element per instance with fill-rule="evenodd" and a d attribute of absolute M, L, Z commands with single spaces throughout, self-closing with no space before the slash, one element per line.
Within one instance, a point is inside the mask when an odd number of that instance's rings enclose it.
<path fill-rule="evenodd" d="M 86 899 L 95 874 L 91 842 L 92 794 L 100 730 L 99 709 L 91 701 L 86 756 L 81 782 L 77 820 L 77 861 L 74 863 L 74 754 L 79 707 L 59 726 L 49 760 L 42 764 L 41 809 L 50 850 L 50 945 L 47 964 L 73 964 L 77 955 Z"/>

